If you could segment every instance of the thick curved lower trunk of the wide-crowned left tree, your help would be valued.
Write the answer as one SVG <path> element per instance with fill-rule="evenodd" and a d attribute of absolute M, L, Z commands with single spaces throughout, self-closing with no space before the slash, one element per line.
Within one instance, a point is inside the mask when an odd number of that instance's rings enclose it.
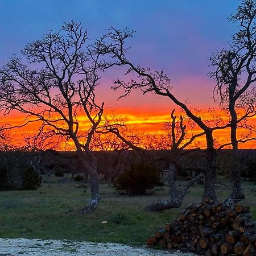
<path fill-rule="evenodd" d="M 88 172 L 91 198 L 88 204 L 80 210 L 81 213 L 90 214 L 97 209 L 100 204 L 100 191 L 98 188 L 97 160 L 92 156 L 89 160 L 85 159 L 84 152 L 79 154 L 78 160 L 81 166 Z"/>

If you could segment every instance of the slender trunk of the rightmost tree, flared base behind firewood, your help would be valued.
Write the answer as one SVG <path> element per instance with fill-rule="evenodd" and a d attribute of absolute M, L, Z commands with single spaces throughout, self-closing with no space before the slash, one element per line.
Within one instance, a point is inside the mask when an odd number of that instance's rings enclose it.
<path fill-rule="evenodd" d="M 245 199 L 245 195 L 242 192 L 241 173 L 239 170 L 238 161 L 238 143 L 237 143 L 237 113 L 234 106 L 234 102 L 230 102 L 229 112 L 231 115 L 231 131 L 230 139 L 232 142 L 232 155 L 231 155 L 231 175 L 232 175 L 232 193 L 225 200 L 225 204 L 229 207 L 234 207 L 241 200 Z"/>

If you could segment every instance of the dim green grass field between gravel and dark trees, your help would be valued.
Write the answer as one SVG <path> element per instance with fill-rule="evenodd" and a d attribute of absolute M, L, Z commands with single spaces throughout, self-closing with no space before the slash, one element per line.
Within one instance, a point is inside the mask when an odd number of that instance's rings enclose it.
<path fill-rule="evenodd" d="M 61 180 L 61 179 L 60 179 Z M 43 183 L 36 191 L 0 192 L 0 237 L 55 238 L 76 241 L 118 242 L 142 245 L 147 236 L 170 222 L 179 209 L 150 213 L 144 207 L 159 199 L 168 198 L 164 186 L 151 196 L 119 196 L 108 183 L 101 183 L 101 204 L 91 215 L 77 211 L 89 199 L 89 188 L 82 183 L 54 180 Z M 219 178 L 222 183 L 228 183 Z M 161 191 L 162 188 L 164 191 Z M 246 200 L 256 220 L 256 184 L 243 182 Z M 217 184 L 218 199 L 228 195 L 230 187 Z M 86 190 L 86 191 L 85 191 Z M 195 185 L 185 196 L 183 207 L 197 202 L 203 195 L 203 186 Z M 65 213 L 68 209 L 73 212 Z M 102 224 L 102 221 L 108 221 Z"/>

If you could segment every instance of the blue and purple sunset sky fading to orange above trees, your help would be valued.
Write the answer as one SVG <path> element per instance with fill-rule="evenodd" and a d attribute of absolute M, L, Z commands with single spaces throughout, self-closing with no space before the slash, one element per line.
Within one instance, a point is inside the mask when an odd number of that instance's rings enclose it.
<path fill-rule="evenodd" d="M 174 86 L 172 92 L 181 101 L 202 111 L 218 109 L 212 91 L 214 81 L 207 73 L 213 51 L 228 46 L 236 24 L 228 15 L 236 11 L 238 0 L 0 0 L 0 65 L 32 40 L 49 30 L 57 31 L 64 21 L 81 21 L 93 40 L 110 26 L 130 27 L 137 31 L 130 39 L 129 58 L 134 64 L 163 69 Z M 97 89 L 98 101 L 105 101 L 108 113 L 126 117 L 140 131 L 155 132 L 175 107 L 168 99 L 151 94 L 131 96 L 116 101 L 121 92 L 110 87 L 120 75 L 112 70 L 102 75 Z M 178 109 L 177 109 L 178 110 Z M 9 119 L 18 123 L 21 116 Z M 22 131 L 17 131 L 22 133 Z M 228 136 L 222 131 L 221 137 Z M 246 147 L 254 146 L 247 144 Z"/>

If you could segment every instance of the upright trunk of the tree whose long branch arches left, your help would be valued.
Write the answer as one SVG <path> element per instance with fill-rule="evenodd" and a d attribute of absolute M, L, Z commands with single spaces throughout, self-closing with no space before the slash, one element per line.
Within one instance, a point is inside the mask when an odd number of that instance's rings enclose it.
<path fill-rule="evenodd" d="M 205 171 L 204 197 L 210 200 L 216 200 L 217 151 L 214 149 L 211 129 L 205 131 L 205 137 L 207 139 L 207 170 Z"/>

